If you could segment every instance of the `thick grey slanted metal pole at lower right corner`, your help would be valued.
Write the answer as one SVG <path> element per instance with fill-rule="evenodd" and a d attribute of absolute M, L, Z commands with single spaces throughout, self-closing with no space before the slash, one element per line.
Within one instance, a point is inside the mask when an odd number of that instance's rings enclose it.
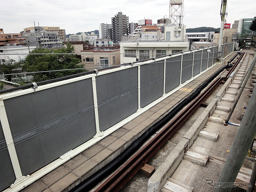
<path fill-rule="evenodd" d="M 256 134 L 256 91 L 252 92 L 250 102 L 242 119 L 240 128 L 236 134 L 226 163 L 223 166 L 218 182 L 234 182 L 236 176 L 244 162 L 244 158 L 248 153 L 248 149 L 252 144 Z M 216 187 L 214 192 L 230 192 L 231 187 Z"/>

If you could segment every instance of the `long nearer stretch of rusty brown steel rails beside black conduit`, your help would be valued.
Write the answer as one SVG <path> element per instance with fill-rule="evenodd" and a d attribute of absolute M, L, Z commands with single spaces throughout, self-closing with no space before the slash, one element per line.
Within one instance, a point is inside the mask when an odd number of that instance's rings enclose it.
<path fill-rule="evenodd" d="M 132 158 L 122 165 L 110 178 L 101 184 L 94 192 L 118 192 L 146 162 L 164 145 L 164 143 L 186 122 L 200 104 L 220 84 L 222 77 L 218 77 L 196 99 L 194 99 L 178 116 L 150 142 L 140 149 Z"/>

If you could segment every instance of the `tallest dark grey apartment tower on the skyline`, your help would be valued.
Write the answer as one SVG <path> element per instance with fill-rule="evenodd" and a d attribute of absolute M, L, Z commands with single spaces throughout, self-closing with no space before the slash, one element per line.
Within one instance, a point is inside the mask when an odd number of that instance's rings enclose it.
<path fill-rule="evenodd" d="M 122 12 L 118 12 L 112 17 L 112 40 L 114 43 L 121 42 L 123 35 L 129 34 L 129 18 L 123 15 Z"/>

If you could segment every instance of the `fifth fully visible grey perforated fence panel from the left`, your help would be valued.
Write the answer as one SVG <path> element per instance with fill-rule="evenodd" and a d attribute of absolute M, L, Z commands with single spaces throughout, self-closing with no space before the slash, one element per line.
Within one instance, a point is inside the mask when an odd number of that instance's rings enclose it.
<path fill-rule="evenodd" d="M 193 53 L 184 54 L 182 59 L 181 83 L 186 82 L 192 76 Z"/>

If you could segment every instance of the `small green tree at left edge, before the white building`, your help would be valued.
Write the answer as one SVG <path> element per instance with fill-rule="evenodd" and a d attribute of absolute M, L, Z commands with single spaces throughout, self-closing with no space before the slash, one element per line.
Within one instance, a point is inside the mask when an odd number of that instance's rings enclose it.
<path fill-rule="evenodd" d="M 13 59 L 8 60 L 4 64 L 0 64 L 0 73 L 1 74 L 12 74 L 13 70 L 16 68 L 21 67 L 21 62 L 16 62 Z M 15 75 L 6 75 L 4 76 L 6 81 L 11 81 L 12 77 L 15 77 Z"/>

